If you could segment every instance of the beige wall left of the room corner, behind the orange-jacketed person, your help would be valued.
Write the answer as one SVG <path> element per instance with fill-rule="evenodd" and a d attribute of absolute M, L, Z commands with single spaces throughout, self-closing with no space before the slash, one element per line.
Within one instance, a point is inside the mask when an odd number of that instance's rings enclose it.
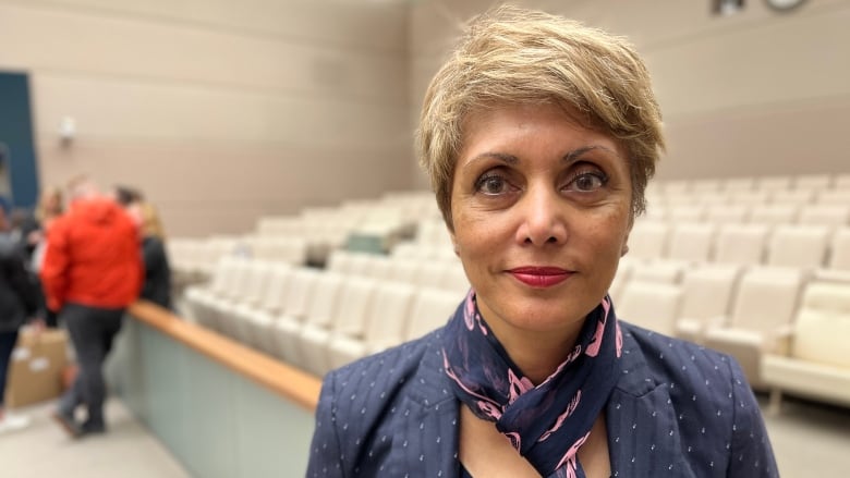
<path fill-rule="evenodd" d="M 31 74 L 41 184 L 87 172 L 143 189 L 172 235 L 246 232 L 410 187 L 405 21 L 342 0 L 0 0 L 0 69 Z"/>

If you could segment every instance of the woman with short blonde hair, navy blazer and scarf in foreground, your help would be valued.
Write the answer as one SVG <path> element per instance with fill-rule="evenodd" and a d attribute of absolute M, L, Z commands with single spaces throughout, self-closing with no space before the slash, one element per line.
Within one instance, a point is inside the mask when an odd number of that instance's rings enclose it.
<path fill-rule="evenodd" d="M 664 147 L 630 45 L 490 11 L 433 79 L 418 147 L 472 290 L 326 377 L 307 476 L 777 475 L 734 360 L 606 295 Z"/>

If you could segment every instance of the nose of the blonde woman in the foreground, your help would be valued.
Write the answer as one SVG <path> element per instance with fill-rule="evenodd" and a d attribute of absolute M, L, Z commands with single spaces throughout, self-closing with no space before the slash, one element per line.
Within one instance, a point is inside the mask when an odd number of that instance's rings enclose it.
<path fill-rule="evenodd" d="M 567 218 L 558 193 L 550 187 L 530 187 L 521 199 L 517 241 L 543 246 L 567 241 Z"/>

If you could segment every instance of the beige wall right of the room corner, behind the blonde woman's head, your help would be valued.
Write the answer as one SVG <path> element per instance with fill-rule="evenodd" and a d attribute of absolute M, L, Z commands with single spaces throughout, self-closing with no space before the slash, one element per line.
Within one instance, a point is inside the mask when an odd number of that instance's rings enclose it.
<path fill-rule="evenodd" d="M 423 0 L 411 9 L 412 105 L 457 25 L 491 2 Z M 850 172 L 850 1 L 810 0 L 791 13 L 746 1 L 732 16 L 709 2 L 526 0 L 632 39 L 653 73 L 668 154 L 659 179 Z M 422 183 L 422 179 L 417 179 Z"/>

